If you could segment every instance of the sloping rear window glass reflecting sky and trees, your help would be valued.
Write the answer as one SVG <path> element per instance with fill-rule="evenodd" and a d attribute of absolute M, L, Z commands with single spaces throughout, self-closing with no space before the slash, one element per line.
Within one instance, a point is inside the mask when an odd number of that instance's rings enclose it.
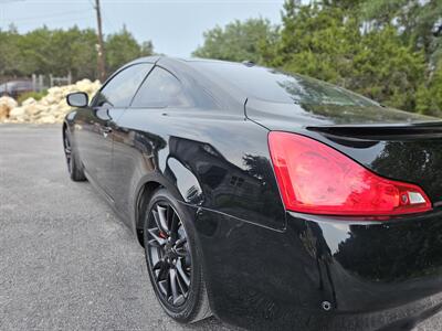
<path fill-rule="evenodd" d="M 261 66 L 229 62 L 193 62 L 202 72 L 231 83 L 246 96 L 273 103 L 339 106 L 379 106 L 346 90 L 302 75 L 292 75 Z"/>

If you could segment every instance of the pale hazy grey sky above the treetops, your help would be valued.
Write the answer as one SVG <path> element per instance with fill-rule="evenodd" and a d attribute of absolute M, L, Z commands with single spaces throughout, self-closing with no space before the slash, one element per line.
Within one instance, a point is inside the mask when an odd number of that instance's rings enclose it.
<path fill-rule="evenodd" d="M 96 28 L 95 0 L 0 0 L 0 29 L 13 23 L 20 33 L 41 28 Z M 188 57 L 203 43 L 202 33 L 238 19 L 265 18 L 281 23 L 284 0 L 101 0 L 103 30 L 125 24 L 138 42 L 152 41 L 155 52 Z"/>

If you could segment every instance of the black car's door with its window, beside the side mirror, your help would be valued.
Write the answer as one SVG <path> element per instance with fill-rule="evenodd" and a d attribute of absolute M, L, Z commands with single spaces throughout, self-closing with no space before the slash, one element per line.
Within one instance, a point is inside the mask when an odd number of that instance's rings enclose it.
<path fill-rule="evenodd" d="M 115 121 L 129 106 L 152 66 L 151 63 L 134 64 L 112 76 L 85 109 L 83 128 L 77 132 L 80 157 L 85 171 L 112 200 Z"/>

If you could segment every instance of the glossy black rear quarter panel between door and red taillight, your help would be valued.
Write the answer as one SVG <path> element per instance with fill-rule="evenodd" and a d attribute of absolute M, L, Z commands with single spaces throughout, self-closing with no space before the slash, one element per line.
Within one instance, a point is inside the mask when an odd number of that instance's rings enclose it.
<path fill-rule="evenodd" d="M 266 129 L 241 116 L 170 108 L 131 109 L 117 126 L 114 167 L 122 170 L 115 201 L 124 213 L 135 206 L 134 188 L 161 177 L 183 202 L 285 227 Z"/>

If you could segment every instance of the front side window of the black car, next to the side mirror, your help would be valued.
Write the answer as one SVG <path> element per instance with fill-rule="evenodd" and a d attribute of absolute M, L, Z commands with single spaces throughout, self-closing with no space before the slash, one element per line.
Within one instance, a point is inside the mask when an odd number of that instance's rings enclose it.
<path fill-rule="evenodd" d="M 139 84 L 154 64 L 140 63 L 126 67 L 114 76 L 94 97 L 93 106 L 127 107 Z"/>

